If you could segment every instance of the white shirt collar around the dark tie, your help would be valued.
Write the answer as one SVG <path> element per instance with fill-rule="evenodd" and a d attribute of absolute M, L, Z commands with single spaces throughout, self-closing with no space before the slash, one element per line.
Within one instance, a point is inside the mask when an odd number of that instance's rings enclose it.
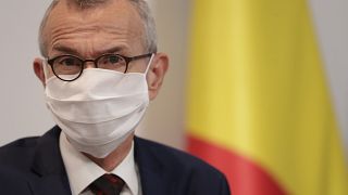
<path fill-rule="evenodd" d="M 63 131 L 60 135 L 60 150 L 73 195 L 80 194 L 91 182 L 104 173 L 114 173 L 122 178 L 133 195 L 138 195 L 141 191 L 139 190 L 139 174 L 134 160 L 134 143 L 132 143 L 127 156 L 111 172 L 107 172 L 74 148 Z"/>

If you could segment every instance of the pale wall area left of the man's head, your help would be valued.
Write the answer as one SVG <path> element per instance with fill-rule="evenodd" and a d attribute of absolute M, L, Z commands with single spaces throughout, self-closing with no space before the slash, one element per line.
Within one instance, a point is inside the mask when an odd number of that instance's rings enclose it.
<path fill-rule="evenodd" d="M 0 144 L 44 133 L 53 122 L 44 105 L 32 62 L 38 55 L 37 29 L 49 0 L 0 2 Z"/>

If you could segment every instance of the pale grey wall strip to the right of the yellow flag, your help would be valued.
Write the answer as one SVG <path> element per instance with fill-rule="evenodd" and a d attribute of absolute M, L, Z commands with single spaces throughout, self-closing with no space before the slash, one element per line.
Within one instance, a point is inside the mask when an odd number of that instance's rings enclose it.
<path fill-rule="evenodd" d="M 310 0 L 348 157 L 348 1 Z"/>

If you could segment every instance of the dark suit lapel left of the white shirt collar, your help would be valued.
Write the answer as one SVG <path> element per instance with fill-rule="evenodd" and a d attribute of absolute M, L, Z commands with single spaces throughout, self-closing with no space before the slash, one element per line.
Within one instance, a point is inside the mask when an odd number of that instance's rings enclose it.
<path fill-rule="evenodd" d="M 38 176 L 30 181 L 34 194 L 71 194 L 67 176 L 59 148 L 61 130 L 54 127 L 38 140 L 32 170 Z"/>

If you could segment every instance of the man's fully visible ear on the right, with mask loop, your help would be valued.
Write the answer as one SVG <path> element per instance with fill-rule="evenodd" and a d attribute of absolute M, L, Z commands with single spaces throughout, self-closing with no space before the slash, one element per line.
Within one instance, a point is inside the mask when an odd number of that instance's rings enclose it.
<path fill-rule="evenodd" d="M 164 75 L 169 67 L 169 57 L 164 53 L 157 53 L 153 56 L 152 63 L 147 75 L 149 99 L 156 99 L 162 86 Z"/>

